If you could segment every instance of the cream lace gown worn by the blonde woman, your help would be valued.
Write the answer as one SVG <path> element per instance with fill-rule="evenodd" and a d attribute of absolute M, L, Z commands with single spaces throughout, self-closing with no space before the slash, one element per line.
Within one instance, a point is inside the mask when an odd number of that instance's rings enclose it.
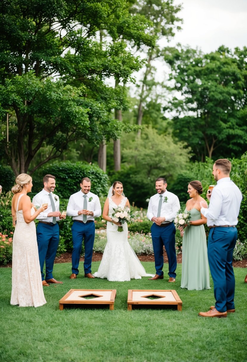
<path fill-rule="evenodd" d="M 13 305 L 20 307 L 39 307 L 46 303 L 41 271 L 39 266 L 36 227 L 34 221 L 26 224 L 22 210 L 18 211 L 17 201 L 16 228 L 13 235 L 12 256 L 12 292 Z M 34 214 L 32 207 L 31 214 Z"/>

